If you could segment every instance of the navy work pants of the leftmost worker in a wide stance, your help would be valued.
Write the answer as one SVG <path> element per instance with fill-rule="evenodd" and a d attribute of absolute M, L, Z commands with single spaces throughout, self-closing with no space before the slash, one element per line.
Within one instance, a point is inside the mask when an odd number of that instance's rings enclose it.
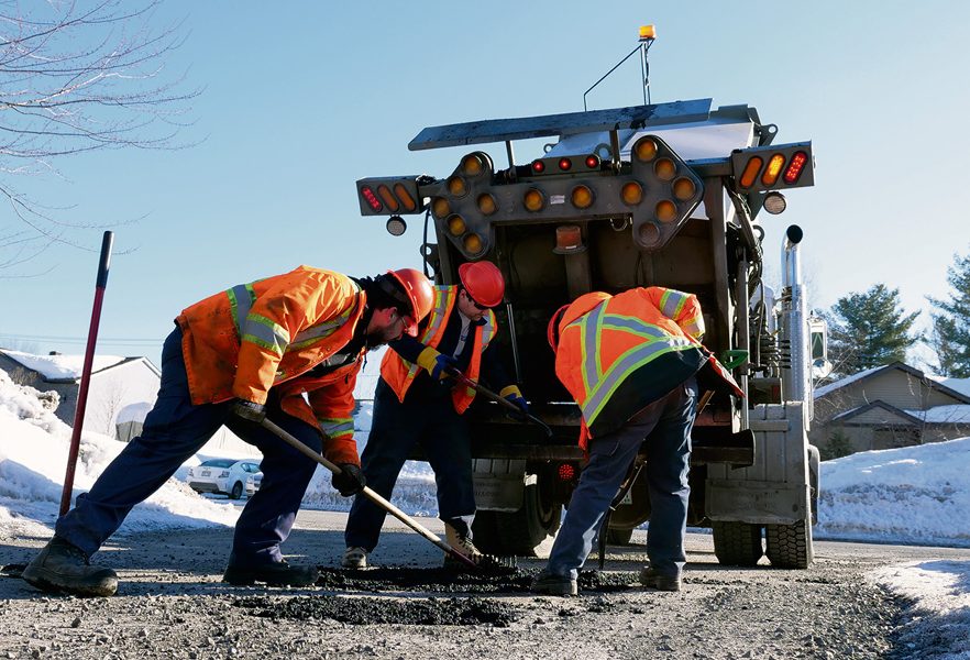
<path fill-rule="evenodd" d="M 317 429 L 284 414 L 278 406 L 271 404 L 267 409 L 273 421 L 320 451 Z M 145 418 L 142 435 L 125 446 L 88 493 L 77 496 L 75 508 L 57 520 L 55 535 L 90 557 L 121 526 L 132 507 L 157 491 L 223 424 L 263 453 L 263 483 L 235 525 L 230 563 L 245 566 L 280 561 L 279 543 L 289 536 L 317 463 L 271 431 L 233 415 L 231 400 L 194 406 L 181 353 L 181 330 L 177 328 L 162 349 L 158 399 Z"/>

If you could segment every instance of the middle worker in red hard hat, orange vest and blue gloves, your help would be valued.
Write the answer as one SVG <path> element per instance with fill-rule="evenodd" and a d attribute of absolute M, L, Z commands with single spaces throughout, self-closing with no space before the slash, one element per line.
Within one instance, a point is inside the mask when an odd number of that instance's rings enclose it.
<path fill-rule="evenodd" d="M 482 554 L 472 542 L 471 528 L 475 514 L 471 438 L 462 416 L 475 391 L 448 380 L 448 367 L 464 372 L 472 381 L 483 376 L 523 411 L 528 404 L 490 345 L 497 330 L 490 308 L 505 295 L 501 273 L 495 264 L 480 261 L 459 266 L 459 279 L 461 285 L 434 287 L 434 305 L 416 339 L 390 342 L 393 350 L 381 363 L 362 464 L 367 484 L 390 498 L 405 461 L 420 442 L 434 471 L 438 513 L 448 543 L 477 561 Z M 344 568 L 367 565 L 384 517 L 384 509 L 370 499 L 354 499 L 344 532 Z"/>

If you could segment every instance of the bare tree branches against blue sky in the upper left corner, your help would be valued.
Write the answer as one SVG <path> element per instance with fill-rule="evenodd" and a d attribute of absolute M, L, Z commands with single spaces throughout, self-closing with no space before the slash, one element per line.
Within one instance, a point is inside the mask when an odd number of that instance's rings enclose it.
<path fill-rule="evenodd" d="M 186 35 L 183 22 L 159 24 L 159 6 L 0 1 L 0 199 L 11 210 L 0 213 L 0 270 L 54 244 L 81 246 L 69 230 L 95 229 L 57 219 L 70 207 L 21 194 L 18 177 L 59 177 L 58 158 L 104 148 L 191 145 L 178 138 L 201 90 L 166 68 Z"/>

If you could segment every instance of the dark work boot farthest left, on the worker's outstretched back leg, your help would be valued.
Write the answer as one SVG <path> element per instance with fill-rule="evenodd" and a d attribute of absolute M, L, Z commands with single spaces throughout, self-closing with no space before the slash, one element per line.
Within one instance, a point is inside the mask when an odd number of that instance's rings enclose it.
<path fill-rule="evenodd" d="M 118 574 L 109 568 L 91 565 L 84 550 L 54 537 L 23 570 L 23 579 L 42 591 L 75 596 L 113 596 Z"/>

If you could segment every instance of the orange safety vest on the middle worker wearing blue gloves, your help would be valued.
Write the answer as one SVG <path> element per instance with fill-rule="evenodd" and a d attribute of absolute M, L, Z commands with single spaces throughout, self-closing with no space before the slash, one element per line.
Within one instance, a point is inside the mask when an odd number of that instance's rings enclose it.
<path fill-rule="evenodd" d="M 448 318 L 451 316 L 451 310 L 458 301 L 458 286 L 434 287 L 434 307 L 431 308 L 431 314 L 428 315 L 427 324 L 423 332 L 419 333 L 418 341 L 432 349 L 441 343 L 441 338 L 444 337 L 444 328 L 448 326 Z M 485 323 L 475 327 L 472 360 L 465 370 L 465 377 L 476 383 L 478 382 L 478 371 L 482 366 L 482 352 L 488 345 L 488 342 L 493 340 L 496 331 L 495 314 L 490 309 L 485 312 L 483 318 Z M 414 362 L 408 362 L 394 351 L 387 351 L 384 354 L 384 360 L 381 362 L 381 377 L 390 386 L 401 403 L 404 403 L 404 397 L 420 370 L 420 366 Z M 455 386 L 451 392 L 451 400 L 459 415 L 472 405 L 474 398 L 475 391 L 471 387 Z"/>

